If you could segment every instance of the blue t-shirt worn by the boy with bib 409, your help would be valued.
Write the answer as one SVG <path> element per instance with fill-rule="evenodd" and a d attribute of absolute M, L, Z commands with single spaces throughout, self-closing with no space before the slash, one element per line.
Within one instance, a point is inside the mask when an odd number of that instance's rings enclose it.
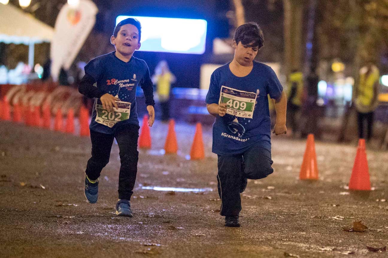
<path fill-rule="evenodd" d="M 274 70 L 268 65 L 253 61 L 252 71 L 247 76 L 237 77 L 230 71 L 229 64 L 230 62 L 217 68 L 211 75 L 206 103 L 218 104 L 221 86 L 226 86 L 247 91 L 250 95 L 255 93 L 256 104 L 252 118 L 230 114 L 216 116 L 212 151 L 222 156 L 240 155 L 253 144 L 259 144 L 271 151 L 271 118 L 267 94 L 278 100 L 283 87 Z"/>

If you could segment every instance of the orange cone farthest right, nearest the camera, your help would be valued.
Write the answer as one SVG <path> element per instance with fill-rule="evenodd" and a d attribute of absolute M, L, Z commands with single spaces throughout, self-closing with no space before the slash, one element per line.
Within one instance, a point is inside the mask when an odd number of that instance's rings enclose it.
<path fill-rule="evenodd" d="M 349 190 L 371 190 L 364 139 L 359 140 L 352 175 L 350 176 Z"/>

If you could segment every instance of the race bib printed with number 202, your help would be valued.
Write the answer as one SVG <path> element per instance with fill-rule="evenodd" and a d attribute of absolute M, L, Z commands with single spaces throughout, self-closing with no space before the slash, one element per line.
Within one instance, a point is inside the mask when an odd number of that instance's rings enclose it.
<path fill-rule="evenodd" d="M 95 121 L 105 126 L 113 127 L 118 122 L 127 120 L 131 111 L 131 103 L 125 101 L 116 101 L 116 104 L 118 109 L 113 108 L 113 111 L 108 111 L 102 107 L 100 99 L 97 99 L 95 105 Z"/>

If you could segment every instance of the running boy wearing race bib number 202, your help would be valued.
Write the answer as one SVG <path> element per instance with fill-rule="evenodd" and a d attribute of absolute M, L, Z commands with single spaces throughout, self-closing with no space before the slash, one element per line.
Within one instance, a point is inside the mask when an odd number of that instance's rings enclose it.
<path fill-rule="evenodd" d="M 149 126 L 155 119 L 152 82 L 144 60 L 133 57 L 140 48 L 141 25 L 128 18 L 116 25 L 111 43 L 116 51 L 92 59 L 85 66 L 79 91 L 96 98 L 90 123 L 92 157 L 85 171 L 85 197 L 98 200 L 101 170 L 109 162 L 113 139 L 120 149 L 119 200 L 116 215 L 133 217 L 130 198 L 137 173 L 139 120 L 136 112 L 136 88 L 140 83 L 149 114 Z M 94 86 L 97 83 L 97 87 Z"/>

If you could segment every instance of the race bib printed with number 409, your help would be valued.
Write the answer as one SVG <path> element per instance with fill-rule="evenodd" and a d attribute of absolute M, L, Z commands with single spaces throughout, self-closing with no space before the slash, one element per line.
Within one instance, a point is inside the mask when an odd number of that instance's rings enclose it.
<path fill-rule="evenodd" d="M 258 92 L 240 91 L 221 86 L 218 104 L 226 103 L 226 113 L 236 117 L 253 117 Z"/>

